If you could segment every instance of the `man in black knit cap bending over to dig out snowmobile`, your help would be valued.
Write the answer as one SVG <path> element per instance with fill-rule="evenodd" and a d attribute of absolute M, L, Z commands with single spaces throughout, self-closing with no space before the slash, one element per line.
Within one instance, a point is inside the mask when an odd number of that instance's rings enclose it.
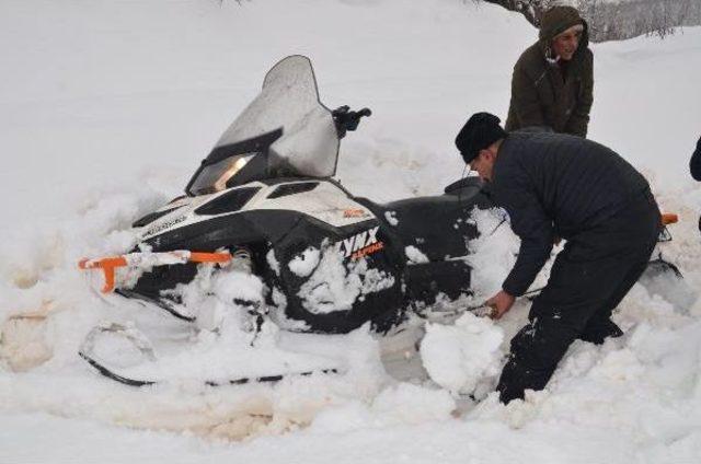
<path fill-rule="evenodd" d="M 601 344 L 622 335 L 611 311 L 645 269 L 660 214 L 645 178 L 610 149 L 563 134 L 507 134 L 498 123 L 478 113 L 456 139 L 521 240 L 502 291 L 487 301 L 495 318 L 532 283 L 553 240 L 566 240 L 529 324 L 512 339 L 497 386 L 508 403 L 542 390 L 576 338 Z"/>

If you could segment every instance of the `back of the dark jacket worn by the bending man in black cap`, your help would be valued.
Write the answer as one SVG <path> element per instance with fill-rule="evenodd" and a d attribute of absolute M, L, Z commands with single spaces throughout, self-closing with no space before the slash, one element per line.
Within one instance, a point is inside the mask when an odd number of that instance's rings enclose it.
<path fill-rule="evenodd" d="M 510 134 L 499 148 L 492 185 L 507 210 L 531 196 L 564 239 L 597 225 L 646 188 L 647 181 L 612 150 L 550 132 Z"/>

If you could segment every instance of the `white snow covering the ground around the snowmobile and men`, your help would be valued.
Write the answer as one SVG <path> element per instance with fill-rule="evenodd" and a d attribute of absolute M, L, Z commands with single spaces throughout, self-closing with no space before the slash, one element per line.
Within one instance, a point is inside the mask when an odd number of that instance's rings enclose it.
<path fill-rule="evenodd" d="M 135 391 L 76 357 L 89 327 L 136 311 L 97 300 L 78 258 L 120 252 L 128 224 L 182 190 L 279 58 L 310 56 L 329 106 L 374 109 L 344 140 L 337 176 L 381 201 L 461 175 L 455 134 L 472 112 L 506 113 L 510 68 L 535 36 L 516 14 L 458 0 L 2 0 L 0 323 L 45 308 L 48 323 L 22 335 L 50 359 L 0 367 L 0 462 L 699 462 L 701 308 L 641 286 L 617 315 L 625 337 L 575 344 L 548 390 L 508 407 L 453 394 L 493 382 L 524 302 L 498 325 L 428 329 L 427 368 L 446 390 L 391 379 L 363 330 L 329 339 L 356 347 L 346 375 L 275 387 Z M 664 253 L 699 288 L 701 189 L 687 163 L 701 128 L 701 28 L 595 55 L 590 138 L 680 214 Z M 507 270 L 493 264 L 485 293 Z M 480 362 L 452 356 L 471 349 Z"/>

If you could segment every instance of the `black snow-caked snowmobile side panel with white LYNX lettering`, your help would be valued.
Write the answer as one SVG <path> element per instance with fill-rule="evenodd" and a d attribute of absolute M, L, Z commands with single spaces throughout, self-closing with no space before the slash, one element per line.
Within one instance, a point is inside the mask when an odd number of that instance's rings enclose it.
<path fill-rule="evenodd" d="M 376 219 L 342 229 L 330 228 L 310 217 L 300 220 L 285 240 L 276 244 L 276 258 L 290 263 L 312 246 L 321 251 L 322 260 L 343 266 L 345 285 L 352 287 L 348 282 L 359 279 L 359 289 L 355 289 L 353 303 L 346 305 L 340 292 L 353 290 L 332 288 L 322 263 L 307 276 L 281 266 L 277 285 L 288 298 L 287 317 L 303 321 L 311 332 L 332 334 L 350 332 L 368 321 L 380 330 L 397 323 L 403 308 L 401 266 L 386 243 L 384 229 Z M 374 278 L 380 282 L 370 288 Z"/>

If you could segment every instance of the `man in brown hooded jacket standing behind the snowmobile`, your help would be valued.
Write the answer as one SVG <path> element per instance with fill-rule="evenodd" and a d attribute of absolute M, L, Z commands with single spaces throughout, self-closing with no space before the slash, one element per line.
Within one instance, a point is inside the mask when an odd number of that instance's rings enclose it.
<path fill-rule="evenodd" d="M 547 126 L 586 137 L 594 102 L 587 23 L 576 9 L 554 7 L 542 16 L 539 37 L 514 67 L 506 130 Z"/>

